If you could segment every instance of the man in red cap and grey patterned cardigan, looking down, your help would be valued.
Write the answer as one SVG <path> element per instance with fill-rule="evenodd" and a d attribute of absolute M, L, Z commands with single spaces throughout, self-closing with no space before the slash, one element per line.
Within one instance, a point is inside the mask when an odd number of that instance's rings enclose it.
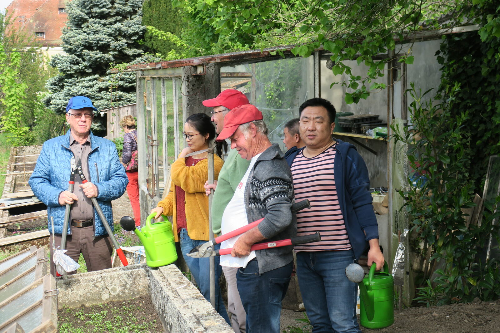
<path fill-rule="evenodd" d="M 292 247 L 259 251 L 250 251 L 250 247 L 264 239 L 275 242 L 295 236 L 296 219 L 290 211 L 290 169 L 279 146 L 267 138 L 262 113 L 253 105 L 237 106 L 227 113 L 217 141 L 227 138 L 231 140 L 231 149 L 250 164 L 224 209 L 222 234 L 263 220 L 222 242 L 220 248 L 232 247 L 232 252 L 220 257 L 220 265 L 238 270 L 236 283 L 246 311 L 246 333 L 279 333 L 281 301 L 292 271 Z"/>

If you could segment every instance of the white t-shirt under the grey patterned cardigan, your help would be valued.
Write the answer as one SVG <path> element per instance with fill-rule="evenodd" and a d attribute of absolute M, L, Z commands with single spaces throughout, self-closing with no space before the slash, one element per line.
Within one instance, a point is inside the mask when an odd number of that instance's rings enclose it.
<path fill-rule="evenodd" d="M 248 165 L 248 169 L 246 169 L 243 178 L 241 178 L 241 181 L 236 187 L 236 190 L 234 191 L 231 201 L 229 201 L 229 203 L 224 209 L 224 213 L 222 214 L 221 229 L 220 229 L 222 235 L 227 234 L 230 231 L 236 230 L 248 224 L 248 220 L 246 217 L 246 210 L 245 210 L 245 187 L 246 187 L 246 181 L 248 180 L 248 176 L 250 174 L 250 170 L 253 169 L 253 165 L 255 164 L 255 161 L 259 156 L 260 154 L 257 154 L 253 156 L 252 159 L 250 160 L 250 165 Z M 226 241 L 223 241 L 220 244 L 220 248 L 221 249 L 232 248 L 234 246 L 234 243 L 236 243 L 236 240 L 240 236 L 241 234 L 229 238 Z M 220 256 L 220 266 L 245 268 L 248 262 L 253 258 L 255 258 L 255 251 L 250 251 L 250 254 L 248 256 L 244 256 L 241 258 L 231 257 L 230 254 L 223 255 Z"/>

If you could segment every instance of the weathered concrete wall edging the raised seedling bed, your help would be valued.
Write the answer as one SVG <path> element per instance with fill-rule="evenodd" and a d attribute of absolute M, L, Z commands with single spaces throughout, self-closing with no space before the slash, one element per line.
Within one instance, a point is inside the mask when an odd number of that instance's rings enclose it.
<path fill-rule="evenodd" d="M 233 332 L 175 265 L 129 265 L 77 274 L 58 280 L 57 288 L 59 309 L 149 295 L 165 332 Z"/>

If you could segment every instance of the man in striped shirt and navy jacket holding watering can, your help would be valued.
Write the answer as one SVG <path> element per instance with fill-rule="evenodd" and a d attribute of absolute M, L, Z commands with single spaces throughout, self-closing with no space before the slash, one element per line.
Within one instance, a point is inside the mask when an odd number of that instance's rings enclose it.
<path fill-rule="evenodd" d="M 345 267 L 369 247 L 368 266 L 384 263 L 371 205 L 368 171 L 347 142 L 333 139 L 335 108 L 322 98 L 299 107 L 305 147 L 287 159 L 295 200 L 309 199 L 311 209 L 297 213 L 297 236 L 319 231 L 321 241 L 295 246 L 296 274 L 312 332 L 360 333 L 354 283 Z"/>

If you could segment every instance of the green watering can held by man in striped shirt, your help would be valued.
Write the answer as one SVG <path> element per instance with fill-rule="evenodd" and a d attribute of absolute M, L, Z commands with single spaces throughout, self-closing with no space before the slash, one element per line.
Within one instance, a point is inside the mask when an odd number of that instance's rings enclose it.
<path fill-rule="evenodd" d="M 383 271 L 375 273 L 373 263 L 369 274 L 358 264 L 345 268 L 347 278 L 359 286 L 359 321 L 367 329 L 383 329 L 394 324 L 394 279 L 387 262 Z"/>

